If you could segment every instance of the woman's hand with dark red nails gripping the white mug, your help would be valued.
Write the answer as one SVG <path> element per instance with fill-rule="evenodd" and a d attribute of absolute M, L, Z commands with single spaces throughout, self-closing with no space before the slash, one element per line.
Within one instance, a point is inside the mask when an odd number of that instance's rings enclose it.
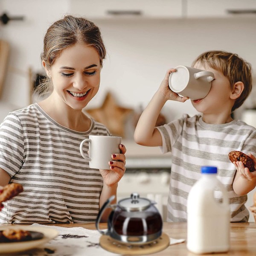
<path fill-rule="evenodd" d="M 126 148 L 120 144 L 120 153 L 112 154 L 113 161 L 109 161 L 110 170 L 99 169 L 103 182 L 107 186 L 116 186 L 125 173 L 125 152 Z"/>

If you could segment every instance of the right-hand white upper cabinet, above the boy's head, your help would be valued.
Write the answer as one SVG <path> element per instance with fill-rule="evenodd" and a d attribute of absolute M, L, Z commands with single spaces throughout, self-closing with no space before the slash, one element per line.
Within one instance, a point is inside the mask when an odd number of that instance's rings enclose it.
<path fill-rule="evenodd" d="M 255 0 L 187 0 L 187 18 L 256 17 Z"/>

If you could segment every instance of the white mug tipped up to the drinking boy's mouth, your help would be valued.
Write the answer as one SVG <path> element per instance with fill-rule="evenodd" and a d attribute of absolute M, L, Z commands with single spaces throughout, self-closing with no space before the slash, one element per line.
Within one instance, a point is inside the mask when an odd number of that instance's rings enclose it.
<path fill-rule="evenodd" d="M 170 89 L 189 99 L 203 99 L 211 89 L 214 74 L 194 67 L 177 66 L 169 76 Z"/>

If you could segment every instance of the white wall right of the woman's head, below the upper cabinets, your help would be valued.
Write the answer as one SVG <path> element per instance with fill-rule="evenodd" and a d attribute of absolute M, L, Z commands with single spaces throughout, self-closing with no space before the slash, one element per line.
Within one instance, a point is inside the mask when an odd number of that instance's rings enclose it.
<path fill-rule="evenodd" d="M 102 91 L 113 90 L 125 105 L 145 106 L 166 70 L 191 65 L 202 52 L 236 52 L 256 67 L 256 19 L 119 20 L 97 22 L 108 49 Z M 100 95 L 99 95 L 100 98 Z M 195 113 L 190 102 L 167 102 L 165 113 L 176 118 Z"/>

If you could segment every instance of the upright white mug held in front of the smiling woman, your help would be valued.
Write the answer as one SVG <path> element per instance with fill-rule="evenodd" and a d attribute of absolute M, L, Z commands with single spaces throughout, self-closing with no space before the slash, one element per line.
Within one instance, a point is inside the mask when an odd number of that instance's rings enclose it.
<path fill-rule="evenodd" d="M 89 160 L 89 167 L 93 169 L 109 169 L 109 161 L 113 161 L 112 154 L 120 152 L 119 144 L 122 137 L 89 135 L 80 143 L 80 153 L 84 159 Z M 85 142 L 89 143 L 89 156 L 83 151 Z"/>

